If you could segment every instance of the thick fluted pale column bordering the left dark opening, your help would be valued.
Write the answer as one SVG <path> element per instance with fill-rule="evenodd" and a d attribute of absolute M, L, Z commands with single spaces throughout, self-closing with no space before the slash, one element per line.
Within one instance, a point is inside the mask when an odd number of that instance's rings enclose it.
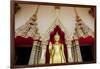
<path fill-rule="evenodd" d="M 41 42 L 34 41 L 28 65 L 39 64 L 41 52 Z"/>

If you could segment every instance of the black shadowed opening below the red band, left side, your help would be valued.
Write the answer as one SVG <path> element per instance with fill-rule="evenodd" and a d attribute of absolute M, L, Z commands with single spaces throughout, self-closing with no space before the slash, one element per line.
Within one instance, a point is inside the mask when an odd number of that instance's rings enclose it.
<path fill-rule="evenodd" d="M 32 47 L 16 47 L 16 65 L 27 65 Z"/>

